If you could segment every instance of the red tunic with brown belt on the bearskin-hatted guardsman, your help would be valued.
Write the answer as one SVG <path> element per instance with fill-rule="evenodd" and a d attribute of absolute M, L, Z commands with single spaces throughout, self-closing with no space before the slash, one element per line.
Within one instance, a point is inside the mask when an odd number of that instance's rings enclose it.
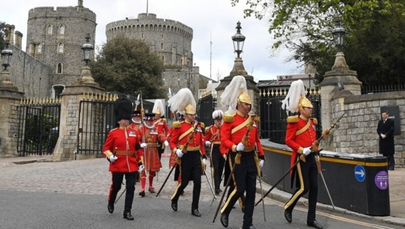
<path fill-rule="evenodd" d="M 137 132 L 131 128 L 115 128 L 108 133 L 102 149 L 103 154 L 106 157 L 115 155 L 118 158 L 110 163 L 110 172 L 128 173 L 138 170 L 138 162 L 142 156 L 138 137 Z"/>

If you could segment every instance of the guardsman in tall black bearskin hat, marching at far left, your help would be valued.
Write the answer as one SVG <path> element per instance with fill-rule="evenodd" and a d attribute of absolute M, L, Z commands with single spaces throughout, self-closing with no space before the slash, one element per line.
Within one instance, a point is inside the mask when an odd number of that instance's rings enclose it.
<path fill-rule="evenodd" d="M 103 146 L 103 154 L 110 162 L 109 171 L 112 174 L 112 183 L 108 195 L 108 211 L 114 211 L 114 202 L 121 188 L 124 176 L 126 179 L 126 195 L 124 218 L 134 220 L 131 215 L 134 200 L 135 179 L 138 170 L 142 170 L 142 148 L 139 136 L 134 129 L 129 128 L 132 103 L 128 98 L 117 99 L 114 103 L 114 115 L 118 128 L 108 133 Z"/>

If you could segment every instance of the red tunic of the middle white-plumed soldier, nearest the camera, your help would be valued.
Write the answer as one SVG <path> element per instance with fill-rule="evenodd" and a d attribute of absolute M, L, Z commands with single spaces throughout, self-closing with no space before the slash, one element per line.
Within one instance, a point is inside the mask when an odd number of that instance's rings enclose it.
<path fill-rule="evenodd" d="M 227 116 L 230 117 L 230 116 Z M 232 117 L 232 116 L 231 116 Z M 228 150 L 232 150 L 236 152 L 236 145 L 242 141 L 242 138 L 245 136 L 248 130 L 248 123 L 247 120 L 251 119 L 248 115 L 243 115 L 241 112 L 237 111 L 236 114 L 233 116 L 233 119 L 224 118 L 224 124 L 222 125 L 222 132 L 221 132 L 221 146 Z M 241 124 L 246 125 L 240 126 Z M 234 132 L 234 133 L 232 133 Z M 243 151 L 249 152 L 255 150 L 255 145 L 257 145 L 258 157 L 264 158 L 264 152 L 262 149 L 262 145 L 259 140 L 259 133 L 257 130 L 256 122 L 253 124 L 253 129 L 249 131 L 248 141 L 245 145 L 245 149 Z M 224 154 L 225 150 L 221 150 L 221 153 Z"/>

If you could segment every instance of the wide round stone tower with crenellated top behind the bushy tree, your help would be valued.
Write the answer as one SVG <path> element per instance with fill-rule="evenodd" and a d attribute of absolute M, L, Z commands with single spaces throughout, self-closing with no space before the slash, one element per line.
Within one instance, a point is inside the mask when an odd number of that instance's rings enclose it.
<path fill-rule="evenodd" d="M 105 30 L 107 42 L 117 34 L 125 34 L 149 44 L 150 50 L 156 52 L 165 65 L 192 66 L 193 30 L 178 21 L 142 13 L 136 19 L 108 23 Z"/>

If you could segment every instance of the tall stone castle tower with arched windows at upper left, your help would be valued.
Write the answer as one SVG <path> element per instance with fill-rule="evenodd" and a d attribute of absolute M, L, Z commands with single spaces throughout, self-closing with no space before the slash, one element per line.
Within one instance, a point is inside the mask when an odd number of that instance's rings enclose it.
<path fill-rule="evenodd" d="M 83 7 L 83 0 L 76 7 L 37 7 L 28 12 L 26 52 L 53 68 L 52 96 L 79 77 L 80 48 L 88 33 L 95 45 L 96 25 L 96 14 Z"/>

